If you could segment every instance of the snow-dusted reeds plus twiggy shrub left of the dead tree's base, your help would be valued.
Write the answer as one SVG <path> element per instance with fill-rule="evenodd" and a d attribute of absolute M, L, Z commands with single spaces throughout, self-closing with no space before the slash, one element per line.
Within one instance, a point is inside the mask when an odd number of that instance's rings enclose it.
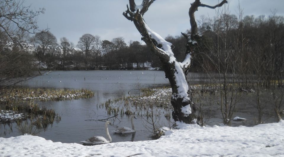
<path fill-rule="evenodd" d="M 171 127 L 171 89 L 160 87 L 141 89 L 141 92 L 142 94 L 136 96 L 109 99 L 104 103 L 97 104 L 97 108 L 105 108 L 107 114 L 112 116 L 134 114 L 142 120 L 144 127 L 150 133 L 156 133 L 157 128 L 161 126 Z"/>

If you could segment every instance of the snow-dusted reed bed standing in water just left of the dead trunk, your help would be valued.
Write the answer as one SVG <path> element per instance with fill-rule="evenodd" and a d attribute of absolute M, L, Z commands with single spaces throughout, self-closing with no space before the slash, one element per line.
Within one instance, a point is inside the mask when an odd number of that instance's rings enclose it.
<path fill-rule="evenodd" d="M 146 119 L 152 116 L 160 117 L 162 113 L 168 113 L 167 110 L 171 108 L 171 89 L 164 86 L 156 89 L 144 88 L 141 91 L 141 95 L 109 99 L 104 103 L 97 104 L 97 108 L 105 108 L 108 115 L 120 115 L 122 117 L 135 114 L 146 117 Z M 149 108 L 151 108 L 151 111 L 149 111 Z M 155 112 L 155 114 L 152 115 L 152 112 Z M 168 116 L 166 117 L 168 118 Z"/>

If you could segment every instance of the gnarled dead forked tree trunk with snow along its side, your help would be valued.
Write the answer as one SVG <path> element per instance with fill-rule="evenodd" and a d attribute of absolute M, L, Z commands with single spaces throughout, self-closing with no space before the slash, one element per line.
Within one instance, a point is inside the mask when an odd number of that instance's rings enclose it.
<path fill-rule="evenodd" d="M 199 6 L 214 9 L 222 6 L 224 3 L 227 3 L 227 1 L 224 0 L 216 6 L 201 4 L 200 0 L 195 0 L 195 2 L 191 4 L 189 9 L 191 35 L 188 36 L 182 33 L 188 42 L 183 62 L 178 62 L 175 58 L 172 52 L 174 46 L 151 30 L 143 19 L 143 15 L 148 11 L 154 1 L 156 0 L 143 0 L 142 4 L 138 6 L 135 4 L 134 0 L 129 0 L 130 8 L 127 5 L 127 10 L 123 12 L 123 15 L 128 20 L 133 21 L 137 30 L 142 35 L 141 39 L 147 44 L 150 50 L 160 58 L 163 64 L 166 78 L 169 79 L 172 87 L 171 104 L 174 108 L 174 111 L 172 112 L 173 119 L 175 121 L 183 121 L 185 123 L 196 123 L 196 108 L 192 103 L 189 86 L 185 78 L 188 73 L 188 69 L 191 66 L 195 47 L 198 45 L 201 37 L 201 35 L 197 34 L 197 24 L 194 12 L 197 11 Z"/>

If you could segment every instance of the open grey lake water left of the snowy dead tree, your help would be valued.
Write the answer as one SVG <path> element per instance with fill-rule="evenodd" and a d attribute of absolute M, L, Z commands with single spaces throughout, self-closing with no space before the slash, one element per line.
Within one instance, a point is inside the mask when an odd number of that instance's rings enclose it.
<path fill-rule="evenodd" d="M 62 118 L 54 123 L 39 136 L 62 143 L 80 143 L 91 136 L 106 136 L 104 122 L 98 121 L 111 117 L 107 115 L 104 108 L 98 108 L 97 104 L 108 99 L 115 99 L 125 95 L 139 94 L 141 88 L 167 85 L 163 71 L 52 71 L 30 79 L 22 84 L 33 88 L 56 88 L 56 89 L 90 89 L 95 93 L 90 99 L 64 100 L 64 101 L 35 101 L 48 109 L 55 109 Z M 123 104 L 122 104 L 123 105 Z M 118 127 L 131 127 L 128 116 L 118 119 L 109 119 L 114 126 L 109 130 Z M 149 131 L 143 126 L 142 120 L 137 117 L 135 122 L 135 134 L 117 135 L 110 133 L 113 142 L 148 140 Z M 1 137 L 8 138 L 17 136 L 16 124 L 13 124 L 13 132 L 4 135 L 4 126 L 1 125 Z M 7 127 L 7 126 L 6 126 Z M 9 132 L 9 131 L 8 131 Z"/>

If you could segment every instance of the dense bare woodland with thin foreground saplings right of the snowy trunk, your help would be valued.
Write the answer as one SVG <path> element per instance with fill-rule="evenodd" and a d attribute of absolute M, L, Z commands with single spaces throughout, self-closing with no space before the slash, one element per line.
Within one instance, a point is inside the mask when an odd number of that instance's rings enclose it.
<path fill-rule="evenodd" d="M 268 106 L 280 120 L 284 104 L 284 17 L 275 13 L 243 17 L 241 9 L 237 17 L 225 9 L 215 18 L 201 17 L 199 30 L 203 36 L 193 67 L 209 78 L 203 84 L 217 86 L 212 91 L 220 93 L 216 105 L 223 123 L 230 125 L 246 92 L 254 95 L 248 102 L 258 111 L 257 123 L 263 122 Z"/>

